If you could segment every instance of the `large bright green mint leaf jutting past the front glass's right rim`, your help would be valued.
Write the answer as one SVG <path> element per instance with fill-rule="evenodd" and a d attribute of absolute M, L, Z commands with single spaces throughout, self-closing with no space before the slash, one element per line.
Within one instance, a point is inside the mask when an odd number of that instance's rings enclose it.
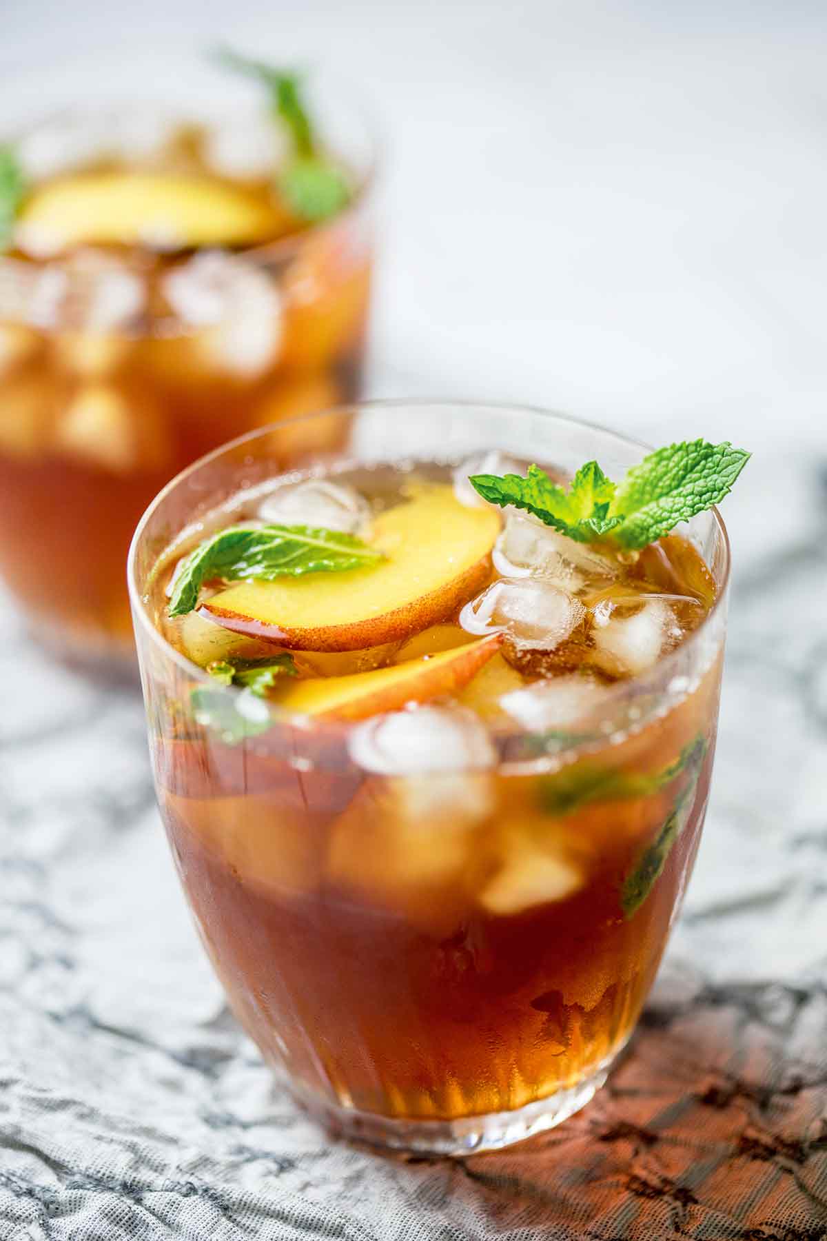
<path fill-rule="evenodd" d="M 670 444 L 632 465 L 619 485 L 610 513 L 621 522 L 614 537 L 639 549 L 666 535 L 679 521 L 719 504 L 750 454 L 725 441 L 693 439 Z"/>

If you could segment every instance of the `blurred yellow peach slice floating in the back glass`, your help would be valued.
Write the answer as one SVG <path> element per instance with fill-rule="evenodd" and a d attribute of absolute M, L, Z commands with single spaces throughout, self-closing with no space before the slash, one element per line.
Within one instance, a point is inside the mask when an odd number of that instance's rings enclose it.
<path fill-rule="evenodd" d="M 19 231 L 22 249 L 52 254 L 89 242 L 233 246 L 265 241 L 284 220 L 262 196 L 206 176 L 86 172 L 35 190 Z"/>

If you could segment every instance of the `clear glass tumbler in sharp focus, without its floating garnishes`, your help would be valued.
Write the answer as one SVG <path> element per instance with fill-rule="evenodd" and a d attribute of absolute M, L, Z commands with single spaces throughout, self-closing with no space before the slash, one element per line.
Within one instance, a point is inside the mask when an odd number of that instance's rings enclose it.
<path fill-rule="evenodd" d="M 324 417 L 340 443 L 327 463 L 500 449 L 565 472 L 596 458 L 616 477 L 645 452 L 526 408 L 402 401 Z M 154 617 L 160 553 L 265 484 L 285 441 L 312 442 L 319 424 L 276 426 L 205 458 L 138 529 L 129 583 L 161 814 L 233 1011 L 312 1112 L 389 1147 L 502 1147 L 594 1095 L 657 972 L 707 807 L 727 535 L 715 511 L 692 521 L 712 611 L 650 671 L 616 684 L 588 731 L 515 726 L 481 767 L 434 732 L 415 771 L 409 756 L 366 769 L 352 725 L 285 717 L 216 684 Z M 314 463 L 312 452 L 291 457 Z M 477 804 L 490 808 L 481 825 L 456 835 Z M 574 891 L 559 889 L 560 858 L 582 876 Z M 482 907 L 476 885 L 495 864 L 548 884 L 548 898 Z"/>

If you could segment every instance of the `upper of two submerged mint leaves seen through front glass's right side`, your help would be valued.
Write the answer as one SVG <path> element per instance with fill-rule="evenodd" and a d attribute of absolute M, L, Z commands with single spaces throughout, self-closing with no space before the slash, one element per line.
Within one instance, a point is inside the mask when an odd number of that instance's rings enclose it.
<path fill-rule="evenodd" d="M 650 797 L 671 784 L 682 772 L 692 772 L 697 778 L 705 752 L 707 742 L 697 736 L 673 762 L 652 774 L 580 762 L 539 782 L 541 804 L 549 814 L 572 814 L 591 802 Z"/>

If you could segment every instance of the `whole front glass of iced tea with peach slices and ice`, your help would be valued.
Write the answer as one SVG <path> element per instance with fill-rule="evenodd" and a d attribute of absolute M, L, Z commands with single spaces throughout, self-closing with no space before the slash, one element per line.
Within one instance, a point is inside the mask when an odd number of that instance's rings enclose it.
<path fill-rule="evenodd" d="M 161 813 L 233 1011 L 311 1111 L 501 1147 L 593 1096 L 657 972 L 707 805 L 727 537 L 712 511 L 613 556 L 482 503 L 471 473 L 643 455 L 555 414 L 334 417 L 335 452 L 285 474 L 314 418 L 248 436 L 138 530 Z M 186 552 L 272 521 L 369 531 L 386 566 L 211 582 L 170 618 Z"/>

